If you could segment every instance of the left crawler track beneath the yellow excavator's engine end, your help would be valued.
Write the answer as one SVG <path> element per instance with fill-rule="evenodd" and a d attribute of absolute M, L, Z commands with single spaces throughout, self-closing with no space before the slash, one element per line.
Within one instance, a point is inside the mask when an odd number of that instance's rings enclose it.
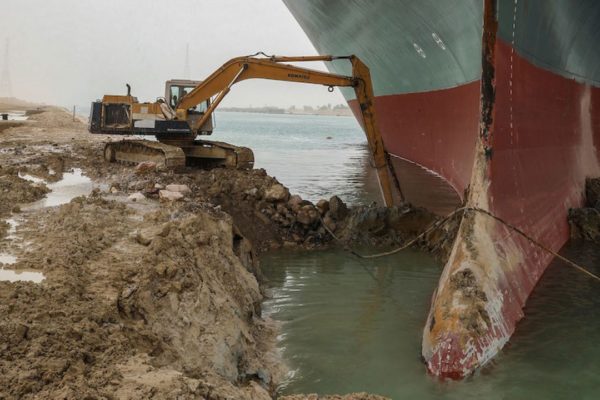
<path fill-rule="evenodd" d="M 168 168 L 185 166 L 185 153 L 180 147 L 149 140 L 109 142 L 104 146 L 104 159 L 123 164 L 152 161 Z"/>

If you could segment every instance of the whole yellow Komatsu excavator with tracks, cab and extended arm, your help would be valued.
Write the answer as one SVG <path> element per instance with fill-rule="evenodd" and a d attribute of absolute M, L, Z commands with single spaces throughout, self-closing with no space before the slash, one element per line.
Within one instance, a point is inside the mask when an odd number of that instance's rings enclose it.
<path fill-rule="evenodd" d="M 262 53 L 261 53 L 262 54 Z M 392 173 L 375 118 L 373 86 L 367 66 L 356 56 L 237 57 L 229 60 L 204 81 L 170 80 L 165 96 L 154 103 L 140 103 L 131 95 L 105 95 L 92 103 L 89 131 L 110 135 L 150 135 L 157 141 L 109 142 L 104 157 L 110 162 L 154 161 L 167 167 L 184 165 L 224 166 L 248 169 L 254 165 L 252 151 L 227 143 L 197 140 L 213 131 L 213 111 L 231 87 L 246 79 L 352 87 L 362 114 L 369 149 L 373 156 L 385 204 L 393 204 Z M 298 67 L 288 62 L 348 60 L 352 76 Z"/>

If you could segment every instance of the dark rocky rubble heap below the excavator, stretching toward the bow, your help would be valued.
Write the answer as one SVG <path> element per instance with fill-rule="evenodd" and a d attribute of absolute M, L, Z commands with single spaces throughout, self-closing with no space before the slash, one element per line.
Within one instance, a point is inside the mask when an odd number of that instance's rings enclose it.
<path fill-rule="evenodd" d="M 439 218 L 408 204 L 391 208 L 375 204 L 349 207 L 337 196 L 315 204 L 291 195 L 288 188 L 262 169 L 187 169 L 177 173 L 145 170 L 141 174 L 130 169 L 128 173 L 113 175 L 109 186 L 115 192 L 139 192 L 146 198 L 158 199 L 159 188 L 171 184 L 190 189 L 183 202 L 212 204 L 231 215 L 236 228 L 253 243 L 257 253 L 280 247 L 400 245 Z M 456 227 L 445 227 L 419 245 L 445 254 L 455 230 Z"/>

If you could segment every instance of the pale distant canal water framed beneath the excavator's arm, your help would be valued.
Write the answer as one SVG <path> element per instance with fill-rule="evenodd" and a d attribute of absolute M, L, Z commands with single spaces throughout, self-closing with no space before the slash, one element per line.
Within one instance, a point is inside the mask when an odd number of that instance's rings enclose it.
<path fill-rule="evenodd" d="M 374 180 L 365 179 L 368 147 L 354 117 L 219 112 L 212 136 L 250 147 L 256 168 L 304 199 L 379 200 Z"/>

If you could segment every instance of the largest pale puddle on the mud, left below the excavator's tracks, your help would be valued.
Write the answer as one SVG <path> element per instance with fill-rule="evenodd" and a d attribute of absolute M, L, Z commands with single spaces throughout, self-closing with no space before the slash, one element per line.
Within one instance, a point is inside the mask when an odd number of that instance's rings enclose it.
<path fill-rule="evenodd" d="M 29 179 L 35 182 L 33 179 L 39 179 L 23 174 L 19 175 L 23 179 Z M 45 182 L 44 180 L 41 180 Z M 45 207 L 54 207 L 61 204 L 66 204 L 72 199 L 78 196 L 86 196 L 91 193 L 94 185 L 92 180 L 87 176 L 83 175 L 80 168 L 74 168 L 73 172 L 63 173 L 63 179 L 54 183 L 47 183 L 46 186 L 51 190 L 45 198 L 38 200 L 29 205 L 23 206 L 24 211 L 39 210 Z"/>

